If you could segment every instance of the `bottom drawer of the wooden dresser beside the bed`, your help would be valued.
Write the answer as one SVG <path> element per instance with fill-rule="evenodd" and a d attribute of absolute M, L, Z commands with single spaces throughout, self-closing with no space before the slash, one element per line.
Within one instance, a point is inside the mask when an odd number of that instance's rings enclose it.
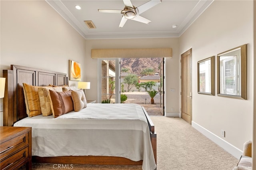
<path fill-rule="evenodd" d="M 1 161 L 1 170 L 12 169 L 28 159 L 28 147 L 14 153 L 12 156 Z"/>

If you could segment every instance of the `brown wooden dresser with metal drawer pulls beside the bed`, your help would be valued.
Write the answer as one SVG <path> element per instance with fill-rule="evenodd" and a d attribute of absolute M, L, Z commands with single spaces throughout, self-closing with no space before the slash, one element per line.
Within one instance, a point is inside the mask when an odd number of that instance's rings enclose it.
<path fill-rule="evenodd" d="M 1 170 L 18 169 L 26 164 L 32 169 L 32 128 L 0 127 Z"/>

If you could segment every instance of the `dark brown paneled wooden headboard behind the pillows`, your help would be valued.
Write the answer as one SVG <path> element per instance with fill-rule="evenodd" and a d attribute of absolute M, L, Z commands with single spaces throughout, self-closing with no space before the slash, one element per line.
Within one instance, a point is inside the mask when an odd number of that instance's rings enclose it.
<path fill-rule="evenodd" d="M 22 83 L 35 86 L 68 84 L 66 73 L 19 65 L 11 65 L 10 70 L 3 70 L 3 77 L 6 78 L 4 90 L 4 126 L 13 126 L 17 121 L 28 117 L 26 114 Z"/>

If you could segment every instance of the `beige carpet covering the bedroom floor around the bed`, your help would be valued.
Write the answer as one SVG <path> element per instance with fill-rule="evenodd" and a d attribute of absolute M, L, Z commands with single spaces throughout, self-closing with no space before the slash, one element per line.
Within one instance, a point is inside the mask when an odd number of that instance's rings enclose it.
<path fill-rule="evenodd" d="M 151 117 L 157 133 L 157 170 L 232 170 L 238 160 L 183 119 Z M 64 165 L 65 166 L 65 165 Z M 23 168 L 22 168 L 23 169 Z M 57 169 L 32 164 L 33 170 Z M 62 167 L 64 169 L 64 167 Z M 141 170 L 141 166 L 66 165 L 73 170 Z"/>

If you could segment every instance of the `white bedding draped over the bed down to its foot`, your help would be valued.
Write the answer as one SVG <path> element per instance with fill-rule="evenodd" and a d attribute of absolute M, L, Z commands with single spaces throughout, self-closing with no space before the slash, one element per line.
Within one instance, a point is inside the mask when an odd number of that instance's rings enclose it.
<path fill-rule="evenodd" d="M 32 127 L 32 156 L 120 156 L 156 168 L 140 105 L 88 103 L 79 112 L 27 117 L 14 126 Z"/>

